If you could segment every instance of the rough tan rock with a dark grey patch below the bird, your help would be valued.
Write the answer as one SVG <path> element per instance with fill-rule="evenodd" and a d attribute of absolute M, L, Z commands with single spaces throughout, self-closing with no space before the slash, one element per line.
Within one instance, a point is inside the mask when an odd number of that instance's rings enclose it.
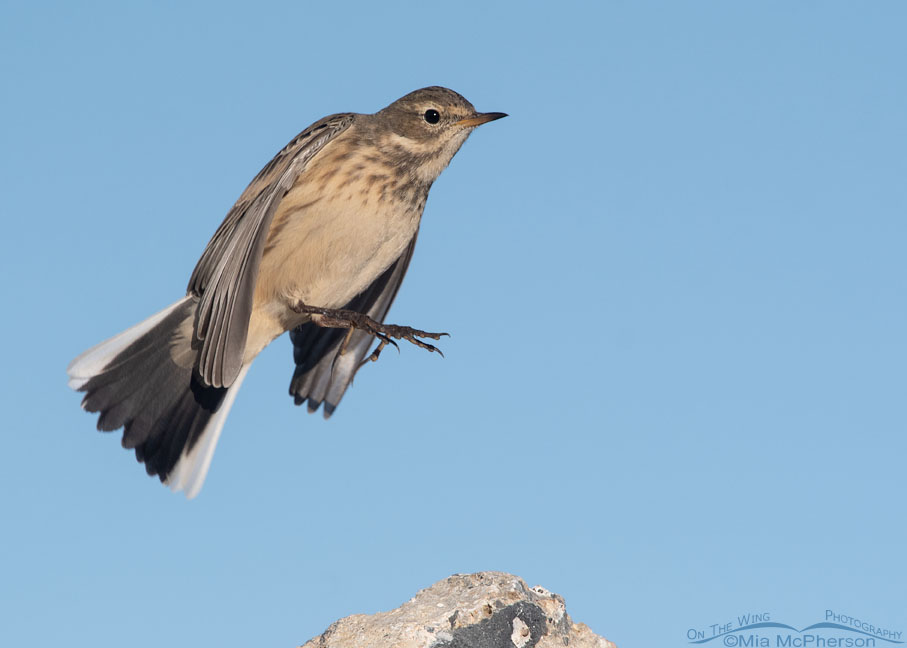
<path fill-rule="evenodd" d="M 302 648 L 615 648 L 564 599 L 501 572 L 454 574 L 390 612 L 354 614 Z"/>

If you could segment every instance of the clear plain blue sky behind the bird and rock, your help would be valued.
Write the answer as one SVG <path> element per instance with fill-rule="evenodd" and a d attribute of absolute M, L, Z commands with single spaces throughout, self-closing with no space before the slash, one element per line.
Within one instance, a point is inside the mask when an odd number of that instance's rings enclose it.
<path fill-rule="evenodd" d="M 622 648 L 826 609 L 907 631 L 907 5 L 4 2 L 0 644 L 295 646 L 454 573 Z M 205 488 L 67 363 L 184 294 L 311 122 L 508 119 L 435 184 L 330 421 L 256 361 Z M 717 643 L 717 642 L 715 642 Z"/>

